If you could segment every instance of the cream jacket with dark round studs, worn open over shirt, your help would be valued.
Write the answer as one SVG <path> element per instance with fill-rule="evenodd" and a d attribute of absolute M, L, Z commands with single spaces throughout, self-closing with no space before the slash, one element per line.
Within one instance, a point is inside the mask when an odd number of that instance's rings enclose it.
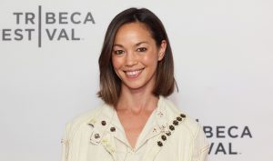
<path fill-rule="evenodd" d="M 62 161 L 118 161 L 115 109 L 103 105 L 66 125 Z M 160 96 L 143 161 L 205 161 L 209 145 L 201 126 Z M 121 138 L 120 138 L 121 139 Z"/>

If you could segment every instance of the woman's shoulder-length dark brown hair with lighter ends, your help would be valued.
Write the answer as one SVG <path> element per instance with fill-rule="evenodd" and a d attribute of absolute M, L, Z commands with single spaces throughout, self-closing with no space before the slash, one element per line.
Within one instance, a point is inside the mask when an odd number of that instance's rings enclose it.
<path fill-rule="evenodd" d="M 177 83 L 174 77 L 174 60 L 164 25 L 157 15 L 146 8 L 129 8 L 119 13 L 107 28 L 104 44 L 98 59 L 100 70 L 100 90 L 97 96 L 106 104 L 116 106 L 121 91 L 121 80 L 116 75 L 112 65 L 112 50 L 117 30 L 130 23 L 142 23 L 160 47 L 162 40 L 167 41 L 164 58 L 157 64 L 156 84 L 153 90 L 155 96 L 170 96 Z M 177 88 L 178 90 L 178 88 Z"/>

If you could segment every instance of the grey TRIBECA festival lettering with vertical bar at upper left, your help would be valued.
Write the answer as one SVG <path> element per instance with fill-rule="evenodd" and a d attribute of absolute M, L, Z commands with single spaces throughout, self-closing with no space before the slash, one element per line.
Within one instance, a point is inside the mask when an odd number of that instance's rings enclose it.
<path fill-rule="evenodd" d="M 44 12 L 42 5 L 34 12 L 13 12 L 10 17 L 15 28 L 1 28 L 1 41 L 36 41 L 42 47 L 43 41 L 80 41 L 77 35 L 79 25 L 95 25 L 91 12 Z"/>

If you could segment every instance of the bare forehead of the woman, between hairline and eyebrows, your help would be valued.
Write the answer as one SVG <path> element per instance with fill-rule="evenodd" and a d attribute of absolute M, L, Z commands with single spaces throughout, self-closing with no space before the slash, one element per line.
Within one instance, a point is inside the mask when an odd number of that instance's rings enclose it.
<path fill-rule="evenodd" d="M 129 23 L 121 25 L 116 32 L 115 44 L 128 41 L 154 40 L 147 25 L 143 23 Z"/>

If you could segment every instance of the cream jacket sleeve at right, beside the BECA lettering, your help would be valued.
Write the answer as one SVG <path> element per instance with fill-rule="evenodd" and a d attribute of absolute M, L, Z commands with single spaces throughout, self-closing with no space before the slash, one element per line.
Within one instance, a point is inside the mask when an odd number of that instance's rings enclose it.
<path fill-rule="evenodd" d="M 209 144 L 202 127 L 198 126 L 193 145 L 192 161 L 207 161 Z"/>

